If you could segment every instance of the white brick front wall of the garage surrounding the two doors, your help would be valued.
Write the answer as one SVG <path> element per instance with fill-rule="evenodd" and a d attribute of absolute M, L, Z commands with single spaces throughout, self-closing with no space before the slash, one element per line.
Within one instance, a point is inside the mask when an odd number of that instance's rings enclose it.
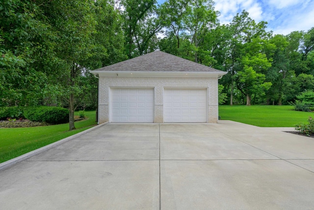
<path fill-rule="evenodd" d="M 188 77 L 100 77 L 99 78 L 99 123 L 109 121 L 110 88 L 147 87 L 155 90 L 155 120 L 163 122 L 164 88 L 207 88 L 208 122 L 218 121 L 218 79 Z"/>

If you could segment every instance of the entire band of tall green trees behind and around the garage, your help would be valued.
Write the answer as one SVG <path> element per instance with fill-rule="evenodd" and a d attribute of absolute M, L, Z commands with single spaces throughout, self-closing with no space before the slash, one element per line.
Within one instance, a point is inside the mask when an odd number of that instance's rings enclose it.
<path fill-rule="evenodd" d="M 97 107 L 89 70 L 156 50 L 228 71 L 228 104 L 286 104 L 314 89 L 314 28 L 267 31 L 212 0 L 2 0 L 0 106 Z"/>

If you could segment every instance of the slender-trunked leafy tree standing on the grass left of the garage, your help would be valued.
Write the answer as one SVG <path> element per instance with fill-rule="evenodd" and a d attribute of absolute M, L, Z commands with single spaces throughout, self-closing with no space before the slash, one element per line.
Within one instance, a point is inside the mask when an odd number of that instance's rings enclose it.
<path fill-rule="evenodd" d="M 45 15 L 57 33 L 55 52 L 59 63 L 54 69 L 54 80 L 60 87 L 69 108 L 69 130 L 75 129 L 74 111 L 78 106 L 75 96 L 83 91 L 79 77 L 93 56 L 91 37 L 95 34 L 95 1 L 53 0 L 46 2 Z"/>

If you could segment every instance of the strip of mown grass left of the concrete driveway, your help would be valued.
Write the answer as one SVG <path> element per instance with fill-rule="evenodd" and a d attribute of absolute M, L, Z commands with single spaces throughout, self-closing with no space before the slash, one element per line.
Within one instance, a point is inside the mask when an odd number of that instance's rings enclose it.
<path fill-rule="evenodd" d="M 78 112 L 75 115 L 78 115 Z M 77 129 L 72 131 L 68 131 L 69 123 L 25 128 L 0 128 L 0 163 L 97 125 L 95 111 L 85 111 L 85 116 L 86 120 L 75 122 Z"/>

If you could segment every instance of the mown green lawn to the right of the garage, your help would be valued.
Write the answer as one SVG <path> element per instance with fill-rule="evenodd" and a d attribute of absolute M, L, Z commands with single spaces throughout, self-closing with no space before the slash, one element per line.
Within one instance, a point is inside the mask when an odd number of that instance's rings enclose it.
<path fill-rule="evenodd" d="M 220 120 L 233 120 L 260 127 L 294 127 L 314 113 L 294 111 L 293 106 L 219 106 Z"/>

